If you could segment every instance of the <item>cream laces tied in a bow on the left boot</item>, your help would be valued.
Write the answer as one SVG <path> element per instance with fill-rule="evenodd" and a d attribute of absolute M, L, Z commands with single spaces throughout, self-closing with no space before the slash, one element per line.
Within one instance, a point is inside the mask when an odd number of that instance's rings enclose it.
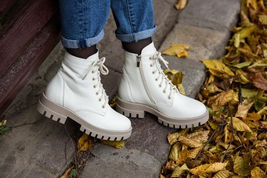
<path fill-rule="evenodd" d="M 101 94 L 100 98 L 98 99 L 99 102 L 104 98 L 105 102 L 102 105 L 102 108 L 105 108 L 106 104 L 109 102 L 109 96 L 106 95 L 105 90 L 103 88 L 103 84 L 100 82 L 100 72 L 103 75 L 107 75 L 109 73 L 109 69 L 104 66 L 105 57 L 101 57 L 100 59 L 96 60 L 92 67 L 86 72 L 83 80 L 87 77 L 87 75 L 91 72 L 92 74 L 96 73 L 96 76 L 92 78 L 92 80 L 97 80 L 97 83 L 93 86 L 96 88 L 98 86 L 98 91 L 96 92 L 96 95 Z"/>

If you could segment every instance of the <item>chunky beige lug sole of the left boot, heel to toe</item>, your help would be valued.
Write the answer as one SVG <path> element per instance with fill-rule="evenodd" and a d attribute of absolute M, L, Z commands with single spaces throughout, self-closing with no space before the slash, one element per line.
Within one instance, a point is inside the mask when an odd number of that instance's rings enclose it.
<path fill-rule="evenodd" d="M 71 110 L 49 100 L 44 93 L 39 99 L 36 108 L 38 112 L 43 114 L 45 117 L 61 124 L 65 124 L 67 118 L 71 118 L 73 121 L 81 125 L 80 130 L 82 132 L 95 138 L 103 140 L 124 140 L 129 138 L 131 135 L 132 128 L 125 131 L 112 131 L 92 126 Z"/>

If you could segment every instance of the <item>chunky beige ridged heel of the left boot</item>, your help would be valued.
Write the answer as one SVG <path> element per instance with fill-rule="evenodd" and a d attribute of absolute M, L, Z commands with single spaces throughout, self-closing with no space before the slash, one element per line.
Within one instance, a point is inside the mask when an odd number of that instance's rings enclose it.
<path fill-rule="evenodd" d="M 45 107 L 40 100 L 37 103 L 36 109 L 38 112 L 40 112 L 41 114 L 43 114 L 44 116 L 46 116 L 47 118 L 50 118 L 53 121 L 59 122 L 61 124 L 65 124 L 67 117 L 60 115 L 50 109 L 48 109 L 47 107 Z"/>

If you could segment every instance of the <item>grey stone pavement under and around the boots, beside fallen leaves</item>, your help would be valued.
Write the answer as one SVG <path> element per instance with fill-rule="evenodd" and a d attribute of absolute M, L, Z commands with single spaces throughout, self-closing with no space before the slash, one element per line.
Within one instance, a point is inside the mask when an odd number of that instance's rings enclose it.
<path fill-rule="evenodd" d="M 182 11 L 175 0 L 154 1 L 157 32 L 153 37 L 159 51 L 173 43 L 189 44 L 188 58 L 165 56 L 171 69 L 184 73 L 186 95 L 195 97 L 205 80 L 202 58 L 221 56 L 237 23 L 237 0 L 189 0 Z M 116 24 L 109 18 L 99 47 L 107 58 L 109 75 L 102 76 L 106 93 L 112 98 L 122 76 L 123 51 L 115 38 Z M 73 160 L 78 125 L 71 120 L 58 124 L 39 114 L 35 105 L 48 81 L 61 66 L 64 50 L 59 44 L 18 94 L 6 112 L 8 126 L 0 137 L 0 171 L 3 177 L 58 177 Z M 124 149 L 96 143 L 82 177 L 157 177 L 170 151 L 167 135 L 176 129 L 160 125 L 155 116 L 130 118 L 133 132 Z M 32 123 L 32 124 L 31 124 Z M 21 125 L 21 126 L 20 126 Z"/>

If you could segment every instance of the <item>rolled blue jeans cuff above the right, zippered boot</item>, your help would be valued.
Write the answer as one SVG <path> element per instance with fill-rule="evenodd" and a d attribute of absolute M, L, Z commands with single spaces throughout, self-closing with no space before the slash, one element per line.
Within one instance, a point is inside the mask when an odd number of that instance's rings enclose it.
<path fill-rule="evenodd" d="M 141 31 L 138 33 L 123 34 L 123 35 L 116 33 L 116 38 L 123 42 L 137 42 L 139 40 L 152 37 L 155 31 L 156 31 L 156 26 L 154 26 L 154 28 L 146 29 L 145 31 Z"/>

